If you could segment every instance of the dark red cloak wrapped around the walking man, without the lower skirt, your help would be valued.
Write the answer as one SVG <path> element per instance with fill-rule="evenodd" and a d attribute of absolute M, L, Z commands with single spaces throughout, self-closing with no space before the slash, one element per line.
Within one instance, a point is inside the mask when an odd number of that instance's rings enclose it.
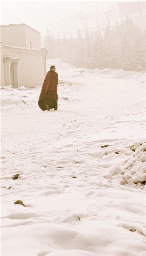
<path fill-rule="evenodd" d="M 44 111 L 46 110 L 46 98 L 49 100 L 58 101 L 57 95 L 57 84 L 58 84 L 58 74 L 53 70 L 47 72 L 45 77 L 40 97 L 39 97 L 39 107 Z"/>

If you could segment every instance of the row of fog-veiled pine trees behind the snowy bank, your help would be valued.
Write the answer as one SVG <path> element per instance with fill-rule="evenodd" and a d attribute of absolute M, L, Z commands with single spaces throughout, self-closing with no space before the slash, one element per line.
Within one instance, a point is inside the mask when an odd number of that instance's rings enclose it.
<path fill-rule="evenodd" d="M 84 34 L 80 30 L 74 38 L 65 35 L 60 38 L 47 32 L 44 46 L 48 48 L 48 58 L 60 58 L 62 61 L 84 68 L 115 68 L 128 71 L 146 69 L 145 31 L 135 26 L 132 19 L 107 25 L 104 31 Z"/>

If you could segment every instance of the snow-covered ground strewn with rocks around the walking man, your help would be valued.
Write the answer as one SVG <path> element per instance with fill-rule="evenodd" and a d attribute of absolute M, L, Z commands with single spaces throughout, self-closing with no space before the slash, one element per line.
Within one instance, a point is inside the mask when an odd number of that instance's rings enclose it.
<path fill-rule="evenodd" d="M 57 111 L 1 87 L 1 256 L 144 256 L 145 74 L 47 64 Z"/>

